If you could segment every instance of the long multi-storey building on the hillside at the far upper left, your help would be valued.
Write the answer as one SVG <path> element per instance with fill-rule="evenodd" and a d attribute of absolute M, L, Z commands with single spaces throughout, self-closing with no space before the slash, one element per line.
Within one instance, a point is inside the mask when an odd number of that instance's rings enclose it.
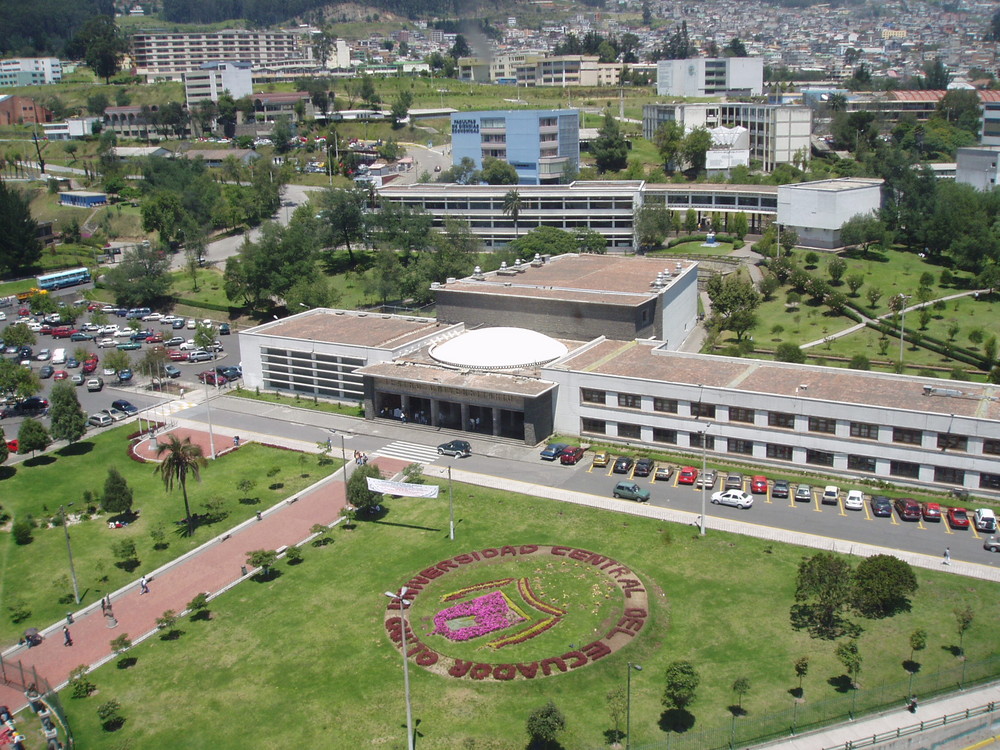
<path fill-rule="evenodd" d="M 182 80 L 183 74 L 216 61 L 316 66 L 308 37 L 287 31 L 143 33 L 132 38 L 135 74 L 147 79 Z"/>

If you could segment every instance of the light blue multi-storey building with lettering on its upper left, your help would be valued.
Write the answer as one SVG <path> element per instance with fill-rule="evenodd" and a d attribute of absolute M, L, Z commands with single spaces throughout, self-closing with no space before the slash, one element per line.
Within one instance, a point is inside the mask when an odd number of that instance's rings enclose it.
<path fill-rule="evenodd" d="M 580 113 L 575 109 L 491 110 L 451 116 L 452 159 L 481 169 L 493 157 L 517 170 L 522 185 L 559 182 L 580 166 Z"/>

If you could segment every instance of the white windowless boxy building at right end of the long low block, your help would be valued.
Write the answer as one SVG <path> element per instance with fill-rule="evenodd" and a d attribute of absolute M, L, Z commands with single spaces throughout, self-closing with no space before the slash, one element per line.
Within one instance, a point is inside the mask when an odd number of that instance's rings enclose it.
<path fill-rule="evenodd" d="M 846 177 L 778 186 L 778 223 L 795 230 L 799 244 L 806 247 L 840 247 L 844 223 L 874 214 L 881 206 L 880 179 Z"/>

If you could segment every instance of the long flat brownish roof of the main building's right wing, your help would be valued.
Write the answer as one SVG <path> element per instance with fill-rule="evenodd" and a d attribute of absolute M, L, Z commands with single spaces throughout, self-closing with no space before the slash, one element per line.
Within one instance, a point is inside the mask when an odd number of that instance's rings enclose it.
<path fill-rule="evenodd" d="M 559 369 L 902 411 L 1000 419 L 1000 387 L 817 365 L 686 354 L 658 342 L 603 341 L 559 360 Z M 544 375 L 544 368 L 543 368 Z M 933 390 L 928 394 L 925 386 Z"/>

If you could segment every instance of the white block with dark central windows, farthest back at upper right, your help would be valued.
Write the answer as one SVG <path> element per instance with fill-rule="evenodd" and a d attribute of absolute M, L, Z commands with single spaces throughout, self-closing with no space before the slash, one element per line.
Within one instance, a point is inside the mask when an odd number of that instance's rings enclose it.
<path fill-rule="evenodd" d="M 658 96 L 761 96 L 764 60 L 760 57 L 690 57 L 660 60 Z"/>

